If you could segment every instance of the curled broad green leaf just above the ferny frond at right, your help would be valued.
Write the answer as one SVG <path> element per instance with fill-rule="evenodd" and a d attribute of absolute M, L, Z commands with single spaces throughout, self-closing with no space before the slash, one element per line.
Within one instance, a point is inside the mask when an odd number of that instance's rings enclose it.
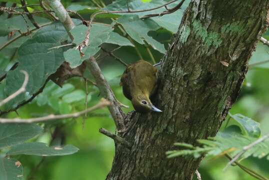
<path fill-rule="evenodd" d="M 229 125 L 238 125 L 242 131 L 242 134 L 249 135 L 252 137 L 260 136 L 260 128 L 259 123 L 254 121 L 253 119 L 246 117 L 242 114 L 234 114 L 229 113 L 229 116 L 235 121 L 230 121 Z"/>

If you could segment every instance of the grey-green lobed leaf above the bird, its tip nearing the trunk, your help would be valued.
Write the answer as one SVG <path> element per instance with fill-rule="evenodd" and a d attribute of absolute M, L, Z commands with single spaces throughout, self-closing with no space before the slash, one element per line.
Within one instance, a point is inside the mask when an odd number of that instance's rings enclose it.
<path fill-rule="evenodd" d="M 141 20 L 137 15 L 123 15 L 117 19 L 126 32 L 140 44 L 144 40 L 152 46 L 153 49 L 165 53 L 164 45 L 147 35 L 150 30 L 157 30 L 160 26 L 152 19 Z"/>

